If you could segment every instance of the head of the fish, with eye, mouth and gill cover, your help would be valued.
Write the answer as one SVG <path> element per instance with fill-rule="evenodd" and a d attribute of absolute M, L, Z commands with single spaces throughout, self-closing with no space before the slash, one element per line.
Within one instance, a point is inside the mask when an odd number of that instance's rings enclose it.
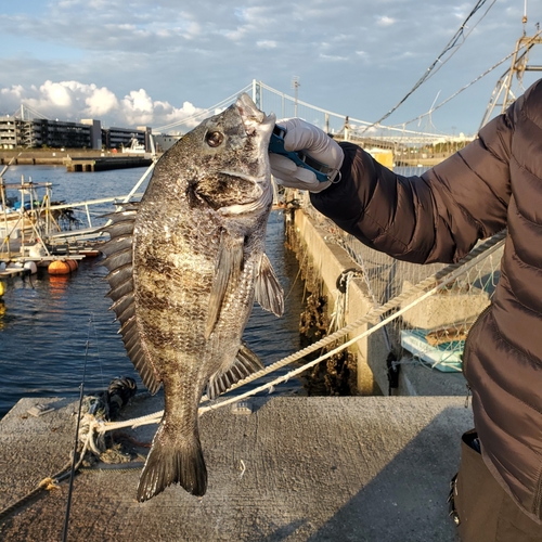
<path fill-rule="evenodd" d="M 224 217 L 270 209 L 268 149 L 275 120 L 243 93 L 177 143 L 185 154 L 183 162 L 190 164 L 182 182 L 191 206 L 207 206 Z"/>

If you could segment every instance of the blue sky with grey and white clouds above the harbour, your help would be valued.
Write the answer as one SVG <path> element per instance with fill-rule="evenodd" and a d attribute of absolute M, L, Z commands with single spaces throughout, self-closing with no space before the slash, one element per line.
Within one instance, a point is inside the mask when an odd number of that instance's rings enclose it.
<path fill-rule="evenodd" d="M 0 115 L 163 127 L 253 79 L 374 122 L 427 74 L 477 0 L 22 0 L 0 5 Z M 489 8 L 489 10 L 488 10 Z M 542 0 L 486 0 L 457 46 L 385 125 L 478 130 L 507 60 L 542 22 Z M 530 64 L 542 64 L 542 44 Z M 515 93 L 537 79 L 527 73 Z M 232 100 L 233 101 L 233 100 Z M 437 106 L 430 114 L 431 108 Z M 266 111 L 266 113 L 270 113 Z M 275 112 L 280 113 L 280 112 Z M 422 116 L 421 118 L 418 118 Z"/>

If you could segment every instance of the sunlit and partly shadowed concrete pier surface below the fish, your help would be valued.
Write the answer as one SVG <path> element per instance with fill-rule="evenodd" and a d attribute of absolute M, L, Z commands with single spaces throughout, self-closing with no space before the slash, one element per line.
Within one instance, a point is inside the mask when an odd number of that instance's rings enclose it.
<path fill-rule="evenodd" d="M 29 415 L 38 402 L 54 410 Z M 138 503 L 141 463 L 91 468 L 75 479 L 68 540 L 456 540 L 447 496 L 460 435 L 472 426 L 463 399 L 271 396 L 249 404 L 248 415 L 227 406 L 201 417 L 205 496 L 172 486 Z M 122 416 L 162 408 L 159 396 L 137 396 Z M 0 508 L 68 461 L 76 412 L 65 399 L 23 399 L 0 422 Z M 150 441 L 155 430 L 130 435 Z M 64 481 L 3 516 L 0 538 L 61 540 L 67 490 Z"/>

